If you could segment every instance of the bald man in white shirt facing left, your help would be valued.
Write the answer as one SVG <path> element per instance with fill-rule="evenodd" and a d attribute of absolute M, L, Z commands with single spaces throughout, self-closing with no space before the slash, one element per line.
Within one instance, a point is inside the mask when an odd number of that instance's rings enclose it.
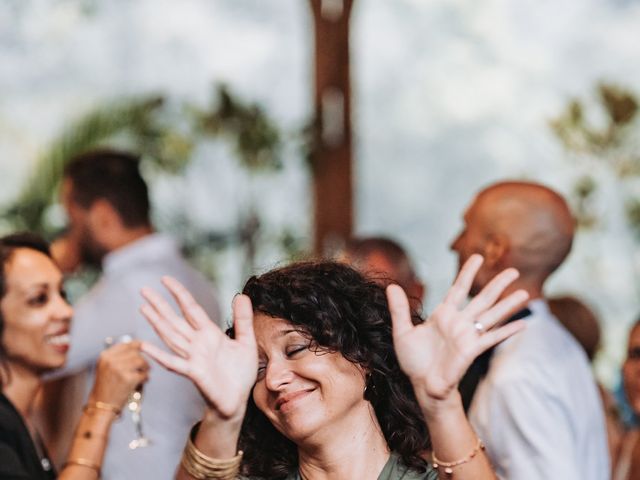
<path fill-rule="evenodd" d="M 502 182 L 481 191 L 451 248 L 460 265 L 484 256 L 472 294 L 508 267 L 520 271 L 504 295 L 529 293 L 527 328 L 492 353 L 469 418 L 500 479 L 604 480 L 610 475 L 605 422 L 587 357 L 551 314 L 549 276 L 573 241 L 564 199 L 535 183 Z M 482 335 L 482 326 L 477 325 Z"/>

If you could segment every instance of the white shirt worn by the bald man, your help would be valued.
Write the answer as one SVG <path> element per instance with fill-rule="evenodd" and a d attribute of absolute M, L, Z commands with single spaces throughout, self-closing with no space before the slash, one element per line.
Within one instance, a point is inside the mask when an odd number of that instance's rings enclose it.
<path fill-rule="evenodd" d="M 501 480 L 610 478 L 603 408 L 587 357 L 544 300 L 500 344 L 469 419 Z"/>

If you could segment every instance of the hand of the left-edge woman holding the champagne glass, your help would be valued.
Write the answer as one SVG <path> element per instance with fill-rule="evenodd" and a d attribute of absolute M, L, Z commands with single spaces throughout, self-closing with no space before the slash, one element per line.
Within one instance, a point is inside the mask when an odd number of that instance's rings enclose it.
<path fill-rule="evenodd" d="M 149 364 L 140 353 L 140 342 L 114 345 L 100 354 L 90 401 L 122 409 L 131 392 L 148 378 Z"/>

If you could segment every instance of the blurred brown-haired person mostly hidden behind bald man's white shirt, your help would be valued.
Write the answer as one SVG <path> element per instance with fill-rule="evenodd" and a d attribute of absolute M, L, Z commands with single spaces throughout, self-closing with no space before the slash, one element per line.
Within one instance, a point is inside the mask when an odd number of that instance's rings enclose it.
<path fill-rule="evenodd" d="M 558 296 L 548 299 L 551 313 L 578 341 L 590 363 L 600 347 L 600 322 L 596 314 L 582 300 L 572 296 Z M 616 464 L 623 435 L 623 425 L 615 398 L 600 382 L 598 392 L 604 408 L 609 443 L 609 457 L 612 467 Z"/>

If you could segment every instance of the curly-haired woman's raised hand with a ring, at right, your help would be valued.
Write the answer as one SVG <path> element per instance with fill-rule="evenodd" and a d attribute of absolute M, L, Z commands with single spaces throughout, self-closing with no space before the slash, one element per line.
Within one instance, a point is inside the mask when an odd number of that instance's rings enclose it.
<path fill-rule="evenodd" d="M 411 322 L 409 302 L 402 288 L 387 287 L 394 348 L 416 394 L 424 393 L 431 400 L 447 399 L 478 355 L 525 327 L 521 320 L 499 326 L 529 297 L 524 290 L 518 290 L 498 301 L 518 278 L 518 271 L 513 268 L 494 277 L 467 304 L 482 261 L 480 255 L 469 258 L 444 301 L 419 325 Z"/>

